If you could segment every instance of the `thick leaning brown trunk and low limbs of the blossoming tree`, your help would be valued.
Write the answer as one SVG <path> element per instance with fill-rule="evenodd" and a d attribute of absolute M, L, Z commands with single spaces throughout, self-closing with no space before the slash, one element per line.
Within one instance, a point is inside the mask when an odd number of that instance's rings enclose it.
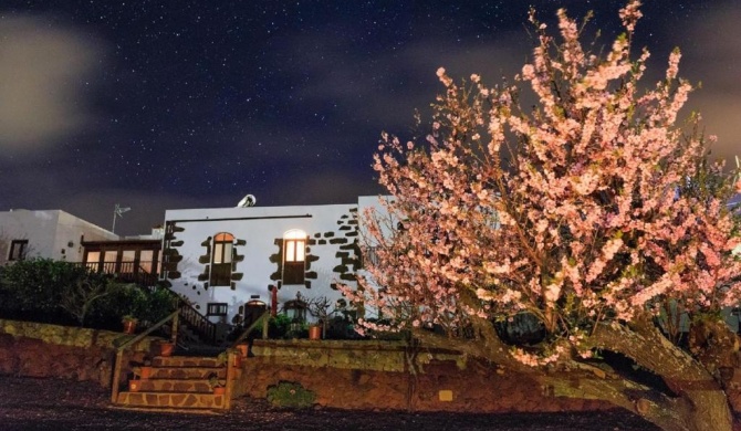
<path fill-rule="evenodd" d="M 589 364 L 563 360 L 546 370 L 525 366 L 510 354 L 491 324 L 473 325 L 480 339 L 445 338 L 427 332 L 415 335 L 428 347 L 457 349 L 487 359 L 515 372 L 523 372 L 554 396 L 595 399 L 624 408 L 667 431 L 731 431 L 733 418 L 720 383 L 689 354 L 671 344 L 650 320 L 635 327 L 604 325 L 587 340 L 592 347 L 615 351 L 657 375 L 674 395 L 647 387 Z M 578 385 L 574 385 L 578 381 Z"/>

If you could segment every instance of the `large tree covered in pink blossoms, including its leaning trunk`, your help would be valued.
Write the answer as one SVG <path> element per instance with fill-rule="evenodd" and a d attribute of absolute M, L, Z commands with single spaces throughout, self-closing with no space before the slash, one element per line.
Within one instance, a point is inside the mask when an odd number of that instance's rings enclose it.
<path fill-rule="evenodd" d="M 630 55 L 639 6 L 620 10 L 625 33 L 605 55 L 583 48 L 583 27 L 563 10 L 559 39 L 531 12 L 539 43 L 514 85 L 478 75 L 459 85 L 438 70 L 445 94 L 427 141 L 384 135 L 378 147 L 388 218 L 366 216 L 377 263 L 348 294 L 387 317 L 361 320 L 365 329 L 408 328 L 424 345 L 528 372 L 560 396 L 608 400 L 664 429 L 730 430 L 721 371 L 738 343 L 720 311 L 741 292 L 726 204 L 741 181 L 707 162 L 714 138 L 698 132 L 699 115 L 677 125 L 692 90 L 677 77 L 678 50 L 661 82 L 639 86 L 649 56 Z M 522 109 L 528 88 L 536 105 Z M 523 314 L 544 335 L 507 344 L 494 323 Z M 597 354 L 608 351 L 668 390 L 605 368 Z M 582 372 L 593 378 L 574 388 Z"/>

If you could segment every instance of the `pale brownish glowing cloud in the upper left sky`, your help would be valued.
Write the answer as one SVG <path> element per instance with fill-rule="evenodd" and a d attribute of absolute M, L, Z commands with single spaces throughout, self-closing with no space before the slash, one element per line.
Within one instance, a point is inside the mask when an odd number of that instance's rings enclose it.
<path fill-rule="evenodd" d="M 91 123 L 80 87 L 98 48 L 42 19 L 0 21 L 0 147 L 36 151 Z"/>

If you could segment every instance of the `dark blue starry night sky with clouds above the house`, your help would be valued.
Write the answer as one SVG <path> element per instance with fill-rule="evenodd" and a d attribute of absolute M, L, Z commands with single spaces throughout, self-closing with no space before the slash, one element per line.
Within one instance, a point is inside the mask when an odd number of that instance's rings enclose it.
<path fill-rule="evenodd" d="M 741 154 L 741 2 L 646 0 L 653 85 L 671 48 L 713 154 Z M 148 233 L 166 209 L 351 203 L 382 192 L 382 130 L 407 135 L 435 74 L 519 72 L 529 4 L 612 43 L 623 1 L 0 2 L 0 211 L 63 209 Z M 551 25 L 554 28 L 555 25 Z M 689 114 L 686 108 L 685 114 Z"/>

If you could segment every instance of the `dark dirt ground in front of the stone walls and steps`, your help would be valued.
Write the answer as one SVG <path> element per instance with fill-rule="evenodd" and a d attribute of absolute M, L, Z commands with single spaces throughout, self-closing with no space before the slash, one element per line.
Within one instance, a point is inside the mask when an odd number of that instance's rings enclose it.
<path fill-rule="evenodd" d="M 276 409 L 242 398 L 219 414 L 152 413 L 112 408 L 98 385 L 0 376 L 0 430 L 656 430 L 624 411 L 578 413 L 408 413 Z"/>

